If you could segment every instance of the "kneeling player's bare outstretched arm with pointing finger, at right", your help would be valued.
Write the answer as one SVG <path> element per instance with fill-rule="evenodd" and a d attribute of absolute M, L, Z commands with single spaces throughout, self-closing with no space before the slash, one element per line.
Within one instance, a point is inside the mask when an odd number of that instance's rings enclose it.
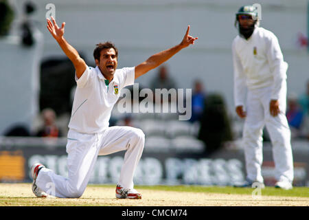
<path fill-rule="evenodd" d="M 168 61 L 174 54 L 181 51 L 183 48 L 188 47 L 190 44 L 194 44 L 194 41 L 198 38 L 194 38 L 193 36 L 189 35 L 190 25 L 187 26 L 187 32 L 185 32 L 185 36 L 183 37 L 183 41 L 179 45 L 171 47 L 168 50 L 163 50 L 157 54 L 150 56 L 147 61 L 137 65 L 135 67 L 135 78 L 146 74 L 146 72 L 150 71 L 151 69 L 155 69 L 165 61 Z"/>

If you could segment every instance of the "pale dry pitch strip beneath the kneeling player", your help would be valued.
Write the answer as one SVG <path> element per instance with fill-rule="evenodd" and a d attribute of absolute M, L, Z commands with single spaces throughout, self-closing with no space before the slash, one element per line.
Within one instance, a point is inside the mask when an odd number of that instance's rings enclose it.
<path fill-rule="evenodd" d="M 308 189 L 308 188 L 307 188 Z M 79 199 L 36 198 L 31 184 L 0 184 L 0 206 L 309 206 L 309 197 L 174 192 L 138 188 L 142 199 L 115 199 L 115 187 L 87 186 Z M 252 189 L 253 190 L 253 189 Z"/>

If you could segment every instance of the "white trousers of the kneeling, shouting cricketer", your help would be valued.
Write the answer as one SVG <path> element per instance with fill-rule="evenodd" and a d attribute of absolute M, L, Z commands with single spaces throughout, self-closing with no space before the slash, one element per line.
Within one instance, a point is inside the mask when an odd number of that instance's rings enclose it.
<path fill-rule="evenodd" d="M 69 130 L 67 135 L 68 178 L 56 175 L 48 168 L 38 173 L 38 188 L 60 198 L 78 198 L 87 187 L 98 155 L 125 151 L 118 184 L 133 188 L 135 168 L 144 149 L 145 135 L 130 126 L 111 126 L 102 133 L 87 134 Z M 51 190 L 51 187 L 54 188 Z"/>

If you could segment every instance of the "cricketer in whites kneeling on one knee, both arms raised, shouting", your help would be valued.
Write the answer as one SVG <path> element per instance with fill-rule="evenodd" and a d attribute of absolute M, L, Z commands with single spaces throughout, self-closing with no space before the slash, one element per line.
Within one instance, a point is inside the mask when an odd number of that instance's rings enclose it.
<path fill-rule="evenodd" d="M 194 44 L 197 38 L 189 35 L 190 26 L 183 41 L 175 47 L 150 56 L 136 67 L 117 69 L 117 48 L 113 43 L 99 43 L 93 52 L 96 67 L 88 67 L 78 52 L 65 40 L 65 23 L 59 28 L 56 21 L 47 19 L 47 29 L 76 69 L 77 89 L 74 96 L 69 132 L 67 135 L 68 178 L 56 175 L 42 164 L 31 168 L 32 191 L 36 197 L 47 197 L 54 186 L 56 197 L 78 198 L 82 196 L 93 171 L 98 155 L 126 151 L 116 197 L 141 199 L 133 188 L 133 175 L 144 149 L 145 135 L 130 126 L 111 126 L 108 121 L 111 110 L 122 88 L 133 85 L 134 80 L 155 69 L 183 48 Z"/>

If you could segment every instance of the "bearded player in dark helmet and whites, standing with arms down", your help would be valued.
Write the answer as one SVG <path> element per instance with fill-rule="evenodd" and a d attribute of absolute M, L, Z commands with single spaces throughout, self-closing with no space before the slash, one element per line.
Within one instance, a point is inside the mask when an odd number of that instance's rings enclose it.
<path fill-rule="evenodd" d="M 239 35 L 232 45 L 234 99 L 236 113 L 240 118 L 246 118 L 242 143 L 247 181 L 242 186 L 259 182 L 264 187 L 262 129 L 266 125 L 273 144 L 275 187 L 288 190 L 293 188 L 293 155 L 285 115 L 288 64 L 284 62 L 275 34 L 258 27 L 257 8 L 252 5 L 240 8 L 236 24 Z"/>

